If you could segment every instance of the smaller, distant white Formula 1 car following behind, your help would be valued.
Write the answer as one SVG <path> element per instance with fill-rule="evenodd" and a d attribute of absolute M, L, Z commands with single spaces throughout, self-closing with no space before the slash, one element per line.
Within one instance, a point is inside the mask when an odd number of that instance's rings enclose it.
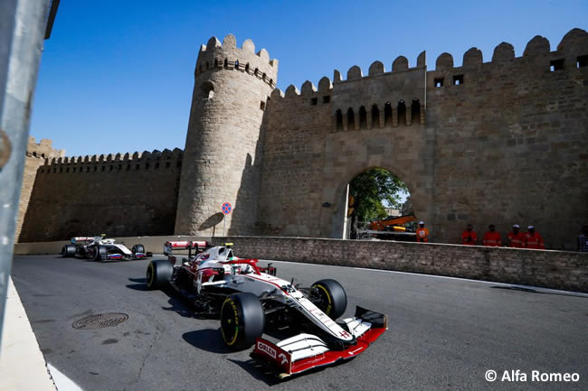
<path fill-rule="evenodd" d="M 128 249 L 124 243 L 116 243 L 102 234 L 98 237 L 71 237 L 71 244 L 62 248 L 62 256 L 80 256 L 103 262 L 143 259 L 151 256 L 151 253 L 146 253 L 143 245 Z"/>

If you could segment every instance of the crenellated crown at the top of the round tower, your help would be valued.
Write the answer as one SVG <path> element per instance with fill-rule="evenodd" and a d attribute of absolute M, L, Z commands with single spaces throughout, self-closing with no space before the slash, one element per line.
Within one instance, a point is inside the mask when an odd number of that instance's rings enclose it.
<path fill-rule="evenodd" d="M 211 37 L 205 45 L 201 45 L 194 70 L 198 77 L 213 70 L 239 70 L 276 87 L 278 60 L 270 60 L 265 49 L 255 52 L 255 44 L 247 39 L 237 48 L 237 40 L 232 34 L 224 37 L 223 43 Z"/>

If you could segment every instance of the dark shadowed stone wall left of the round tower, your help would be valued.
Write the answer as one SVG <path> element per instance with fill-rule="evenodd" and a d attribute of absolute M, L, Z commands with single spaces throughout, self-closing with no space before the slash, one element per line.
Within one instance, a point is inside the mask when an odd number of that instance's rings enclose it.
<path fill-rule="evenodd" d="M 175 149 L 45 159 L 31 170 L 33 191 L 18 241 L 172 232 L 182 157 Z"/>

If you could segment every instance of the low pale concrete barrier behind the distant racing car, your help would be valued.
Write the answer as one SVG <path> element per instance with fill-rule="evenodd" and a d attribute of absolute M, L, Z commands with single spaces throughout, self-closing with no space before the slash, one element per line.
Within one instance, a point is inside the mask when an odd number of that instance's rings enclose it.
<path fill-rule="evenodd" d="M 164 243 L 168 240 L 208 240 L 212 237 L 190 237 L 190 236 L 168 236 L 168 237 L 113 237 L 117 242 L 124 242 L 128 248 L 137 244 L 142 244 L 145 251 L 154 254 L 161 254 L 164 250 Z M 70 240 L 59 240 L 55 242 L 32 242 L 16 243 L 14 245 L 14 255 L 34 255 L 34 254 L 61 254 L 62 247 L 71 243 Z"/>

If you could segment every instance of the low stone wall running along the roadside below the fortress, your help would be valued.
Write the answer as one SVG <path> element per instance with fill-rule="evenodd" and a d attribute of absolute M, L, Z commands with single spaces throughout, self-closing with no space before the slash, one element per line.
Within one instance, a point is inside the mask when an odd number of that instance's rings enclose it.
<path fill-rule="evenodd" d="M 588 254 L 299 237 L 213 237 L 239 257 L 447 275 L 588 293 Z"/>

